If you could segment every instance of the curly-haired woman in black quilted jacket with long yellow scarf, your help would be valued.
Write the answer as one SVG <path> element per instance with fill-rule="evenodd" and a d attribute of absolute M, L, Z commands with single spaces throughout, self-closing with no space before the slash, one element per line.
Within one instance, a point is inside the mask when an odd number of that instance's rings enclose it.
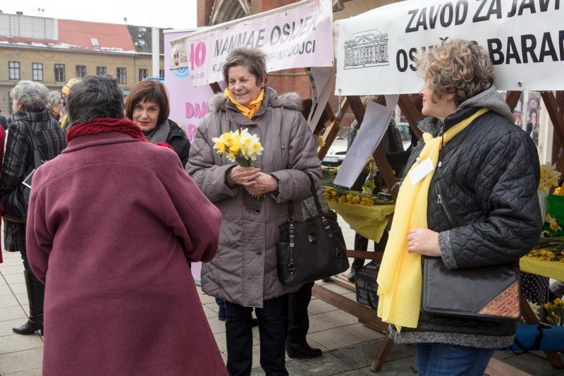
<path fill-rule="evenodd" d="M 517 262 L 541 232 L 539 157 L 479 44 L 451 40 L 422 54 L 417 68 L 427 117 L 398 193 L 378 315 L 394 341 L 415 344 L 418 375 L 482 375 L 494 350 L 513 343 L 515 322 L 422 312 L 422 256 L 453 270 Z M 469 282 L 458 298 L 472 293 Z"/>

